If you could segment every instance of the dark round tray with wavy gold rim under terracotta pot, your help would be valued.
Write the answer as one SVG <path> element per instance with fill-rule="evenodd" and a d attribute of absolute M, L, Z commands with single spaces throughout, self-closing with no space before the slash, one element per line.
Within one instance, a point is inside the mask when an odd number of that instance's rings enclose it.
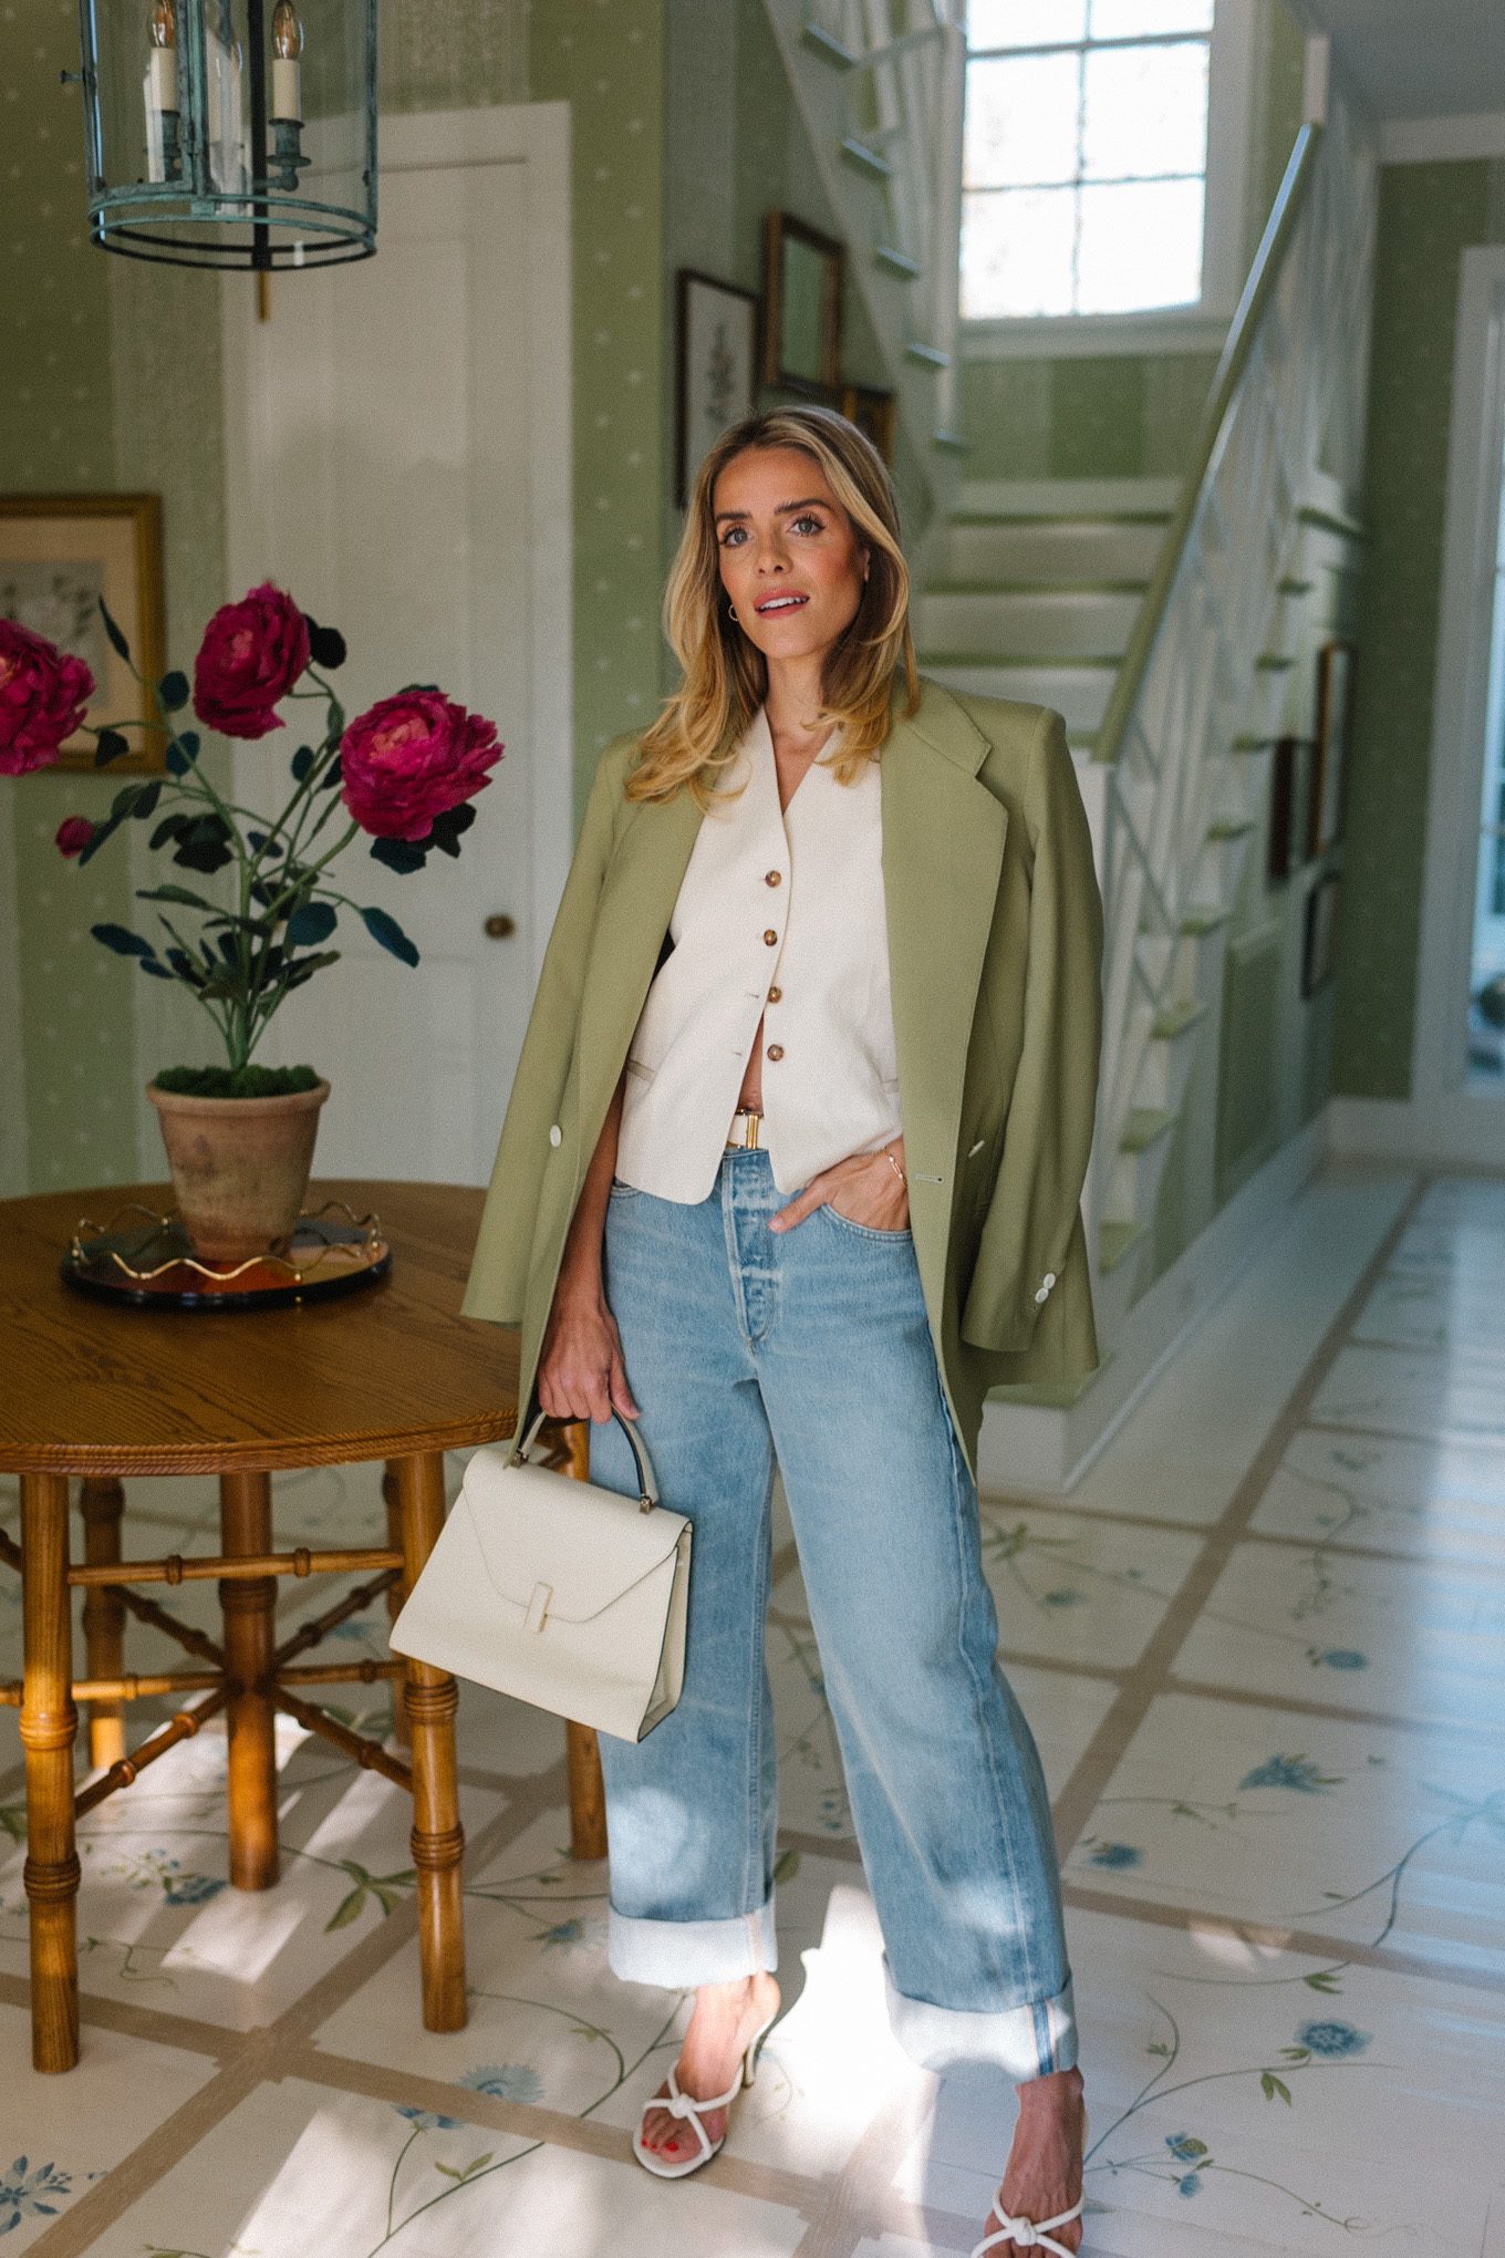
<path fill-rule="evenodd" d="M 246 1262 L 201 1262 L 176 1215 L 129 1201 L 108 1224 L 79 1222 L 59 1269 L 99 1301 L 138 1310 L 278 1310 L 354 1294 L 393 1267 L 377 1215 L 327 1199 L 289 1240 Z"/>

